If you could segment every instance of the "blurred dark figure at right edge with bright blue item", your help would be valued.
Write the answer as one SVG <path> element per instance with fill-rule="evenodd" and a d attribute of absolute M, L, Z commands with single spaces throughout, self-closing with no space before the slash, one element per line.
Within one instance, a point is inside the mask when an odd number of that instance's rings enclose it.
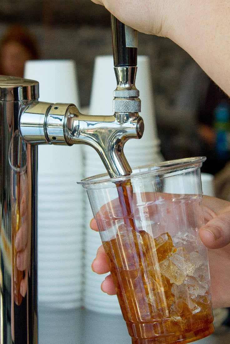
<path fill-rule="evenodd" d="M 203 172 L 216 174 L 230 161 L 230 97 L 211 79 L 197 117 L 200 152 L 207 157 Z M 218 197 L 222 198 L 219 192 Z"/>

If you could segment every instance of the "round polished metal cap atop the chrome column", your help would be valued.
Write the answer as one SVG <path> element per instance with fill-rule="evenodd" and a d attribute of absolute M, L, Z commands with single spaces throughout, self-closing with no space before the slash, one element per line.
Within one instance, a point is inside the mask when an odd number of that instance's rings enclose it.
<path fill-rule="evenodd" d="M 37 81 L 0 75 L 0 101 L 37 100 L 38 98 Z"/>

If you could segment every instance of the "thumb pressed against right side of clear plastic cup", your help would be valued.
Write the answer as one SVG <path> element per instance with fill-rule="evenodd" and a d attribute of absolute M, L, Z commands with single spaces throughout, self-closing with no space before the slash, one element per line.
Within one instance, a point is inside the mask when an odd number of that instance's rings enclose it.
<path fill-rule="evenodd" d="M 223 210 L 200 229 L 200 239 L 208 248 L 221 248 L 230 243 L 230 208 Z"/>

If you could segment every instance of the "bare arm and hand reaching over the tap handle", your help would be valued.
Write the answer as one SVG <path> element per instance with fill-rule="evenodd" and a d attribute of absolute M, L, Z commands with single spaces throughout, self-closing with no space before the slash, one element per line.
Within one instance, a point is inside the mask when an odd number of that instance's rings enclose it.
<path fill-rule="evenodd" d="M 230 95 L 228 0 L 93 0 L 120 21 L 180 45 Z"/>

